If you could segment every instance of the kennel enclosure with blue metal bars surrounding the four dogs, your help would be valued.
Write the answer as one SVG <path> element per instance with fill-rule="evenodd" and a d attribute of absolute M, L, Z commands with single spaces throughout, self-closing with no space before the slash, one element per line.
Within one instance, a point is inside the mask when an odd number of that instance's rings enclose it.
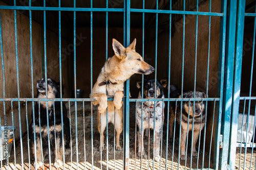
<path fill-rule="evenodd" d="M 63 169 L 255 169 L 255 138 L 237 142 L 239 113 L 250 115 L 247 120 L 256 116 L 254 1 L 14 0 L 0 5 L 1 125 L 7 115 L 8 125 L 17 126 L 12 156 L 1 169 L 35 168 L 26 132 L 36 101 L 60 101 L 68 108 L 73 133 Z M 106 150 L 98 151 L 97 108 L 89 94 L 104 61 L 113 56 L 112 38 L 125 47 L 137 38 L 136 51 L 155 72 L 125 83 L 122 151 L 115 151 L 111 124 Z M 60 82 L 60 99 L 36 99 L 36 81 L 45 77 Z M 136 79 L 163 77 L 168 77 L 164 99 L 137 99 Z M 168 141 L 169 102 L 202 99 L 170 99 L 171 84 L 208 95 L 198 157 L 192 158 L 189 139 L 185 161 L 180 160 L 179 132 L 177 140 Z M 83 90 L 82 98 L 77 89 Z M 165 102 L 160 162 L 152 159 L 154 131 L 144 142 L 145 156 L 136 156 L 135 107 L 147 101 Z M 255 121 L 253 126 L 254 136 Z M 54 160 L 45 161 L 54 169 Z"/>

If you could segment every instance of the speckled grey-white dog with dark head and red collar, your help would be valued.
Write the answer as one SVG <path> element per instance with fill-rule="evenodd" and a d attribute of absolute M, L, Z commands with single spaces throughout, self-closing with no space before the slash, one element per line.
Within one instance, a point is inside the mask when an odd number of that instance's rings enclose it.
<path fill-rule="evenodd" d="M 156 85 L 156 89 L 155 89 Z M 157 80 L 144 80 L 143 85 L 143 99 L 164 98 L 163 88 L 167 85 L 167 79 Z M 137 81 L 137 87 L 141 88 L 141 81 Z M 141 99 L 141 92 L 139 92 L 139 99 Z M 142 105 L 142 106 L 141 106 Z M 160 142 L 162 127 L 164 121 L 164 102 L 138 102 L 137 110 L 137 128 L 138 128 L 138 156 L 144 155 L 143 134 L 145 129 L 154 129 L 155 118 L 155 161 L 160 161 Z M 142 129 L 141 129 L 142 119 Z M 149 124 L 149 125 L 148 125 Z M 145 135 L 147 135 L 145 133 Z"/>

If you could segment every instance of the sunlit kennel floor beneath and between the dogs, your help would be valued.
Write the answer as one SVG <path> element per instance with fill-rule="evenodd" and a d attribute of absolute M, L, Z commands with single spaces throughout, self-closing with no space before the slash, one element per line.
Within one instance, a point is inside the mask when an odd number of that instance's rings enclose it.
<path fill-rule="evenodd" d="M 69 107 L 70 105 L 70 107 Z M 76 106 L 76 107 L 75 107 Z M 123 151 L 114 150 L 114 126 L 109 124 L 108 128 L 108 147 L 107 141 L 104 140 L 105 150 L 102 153 L 98 150 L 100 145 L 100 135 L 97 130 L 97 107 L 91 109 L 91 102 L 68 102 L 66 103 L 68 114 L 71 116 L 72 127 L 72 149 L 70 154 L 65 155 L 65 169 L 123 169 Z M 91 122 L 92 121 L 92 122 Z M 92 127 L 91 127 L 92 125 Z M 173 143 L 168 144 L 167 159 L 166 159 L 166 127 L 163 127 L 162 140 L 162 158 L 161 162 L 153 162 L 153 131 L 150 131 L 150 147 L 148 147 L 148 138 L 144 139 L 144 156 L 139 158 L 136 155 L 138 151 L 138 142 L 135 143 L 135 104 L 130 105 L 130 169 L 189 169 L 191 168 L 212 168 L 212 160 L 209 154 L 205 152 L 203 161 L 203 151 L 200 149 L 199 157 L 193 157 L 190 161 L 190 148 L 187 153 L 186 161 L 179 161 L 178 150 L 179 143 L 175 140 L 174 152 Z M 77 136 L 77 137 L 76 137 Z M 106 136 L 106 131 L 104 132 Z M 20 147 L 22 143 L 22 147 Z M 120 135 L 120 145 L 123 148 L 123 133 Z M 22 148 L 22 149 L 21 149 Z M 22 140 L 15 141 L 15 148 L 11 152 L 9 158 L 9 169 L 35 169 L 33 165 L 33 156 L 31 148 L 28 144 L 28 136 L 25 135 Z M 108 149 L 106 149 L 108 148 Z M 149 156 L 148 157 L 148 148 Z M 239 149 L 239 148 L 238 148 Z M 242 150 L 241 157 L 245 155 Z M 240 150 L 237 152 L 238 163 L 236 168 L 243 169 L 243 161 L 240 161 Z M 251 158 L 251 149 L 247 149 L 246 166 L 249 167 Z M 252 169 L 255 169 L 255 151 L 252 156 Z M 241 160 L 242 160 L 241 158 Z M 210 165 L 209 165 L 210 160 Z M 54 156 L 51 157 L 51 169 L 56 169 L 53 166 Z M 253 163 L 254 162 L 254 163 Z M 154 166 L 153 166 L 154 163 Z M 45 169 L 49 169 L 49 156 L 44 160 Z M 203 165 L 202 165 L 203 164 Z M 1 166 L 2 169 L 8 169 L 8 166 Z M 42 168 L 42 167 L 41 167 Z M 64 169 L 64 168 L 61 168 Z"/>

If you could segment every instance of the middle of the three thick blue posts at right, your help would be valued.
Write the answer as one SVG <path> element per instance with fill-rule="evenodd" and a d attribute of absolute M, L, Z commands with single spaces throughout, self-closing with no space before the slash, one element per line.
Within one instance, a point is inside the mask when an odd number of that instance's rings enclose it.
<path fill-rule="evenodd" d="M 221 134 L 223 135 L 223 147 L 220 151 L 220 168 L 225 169 L 228 166 L 228 151 L 229 151 L 229 135 L 231 121 L 231 105 L 233 92 L 233 69 L 234 69 L 234 46 L 236 38 L 236 16 L 237 16 L 237 1 L 228 1 L 227 8 L 227 34 L 226 34 L 226 53 L 225 53 L 225 72 L 224 72 L 224 90 L 223 90 L 223 105 Z"/>

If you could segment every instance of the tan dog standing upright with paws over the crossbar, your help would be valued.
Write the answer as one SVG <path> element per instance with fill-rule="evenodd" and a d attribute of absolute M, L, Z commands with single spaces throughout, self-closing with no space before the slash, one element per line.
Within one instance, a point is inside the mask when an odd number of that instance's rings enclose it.
<path fill-rule="evenodd" d="M 104 149 L 103 132 L 106 127 L 106 108 L 108 109 L 108 123 L 114 124 L 114 111 L 116 112 L 116 150 L 121 150 L 119 137 L 123 129 L 123 88 L 124 82 L 134 74 L 151 74 L 155 69 L 143 61 L 142 57 L 135 51 L 136 39 L 127 47 L 113 39 L 113 50 L 115 55 L 106 60 L 97 82 L 93 86 L 92 98 L 99 104 L 97 110 L 98 131 L 100 133 L 101 117 L 101 146 Z M 108 82 L 108 83 L 107 83 Z M 106 94 L 107 92 L 107 94 Z M 108 96 L 114 96 L 114 101 L 108 102 Z"/>

